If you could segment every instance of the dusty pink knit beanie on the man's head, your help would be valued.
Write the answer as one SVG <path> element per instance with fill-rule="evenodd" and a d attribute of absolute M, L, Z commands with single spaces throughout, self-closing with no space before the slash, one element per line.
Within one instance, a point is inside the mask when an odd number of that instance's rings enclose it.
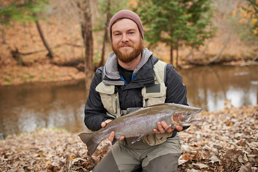
<path fill-rule="evenodd" d="M 142 39 L 143 39 L 143 26 L 142 26 L 142 22 L 141 22 L 141 19 L 140 17 L 134 13 L 133 11 L 130 11 L 130 10 L 121 10 L 121 11 L 118 11 L 110 20 L 110 23 L 109 23 L 109 34 L 110 34 L 110 39 L 112 37 L 112 30 L 111 30 L 111 27 L 113 26 L 113 24 L 115 23 L 116 20 L 118 19 L 121 19 L 121 18 L 127 18 L 127 19 L 130 19 L 130 20 L 133 20 L 137 26 L 138 26 L 138 29 L 141 33 L 141 36 L 142 36 Z"/>

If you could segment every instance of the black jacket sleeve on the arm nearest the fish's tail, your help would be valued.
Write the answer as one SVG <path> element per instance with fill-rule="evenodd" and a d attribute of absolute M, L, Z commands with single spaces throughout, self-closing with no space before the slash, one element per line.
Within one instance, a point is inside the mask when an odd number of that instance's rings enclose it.
<path fill-rule="evenodd" d="M 91 81 L 88 99 L 84 109 L 84 123 L 91 131 L 101 129 L 101 123 L 107 119 L 112 119 L 106 114 L 107 110 L 104 108 L 100 93 L 95 90 L 96 86 L 102 82 L 103 67 L 98 68 Z"/>

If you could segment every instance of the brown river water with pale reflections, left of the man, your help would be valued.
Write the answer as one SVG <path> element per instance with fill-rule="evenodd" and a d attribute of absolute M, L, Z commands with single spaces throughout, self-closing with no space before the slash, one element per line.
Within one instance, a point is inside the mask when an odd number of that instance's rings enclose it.
<path fill-rule="evenodd" d="M 84 81 L 1 87 L 0 132 L 26 132 L 37 127 L 83 131 L 85 102 Z"/>

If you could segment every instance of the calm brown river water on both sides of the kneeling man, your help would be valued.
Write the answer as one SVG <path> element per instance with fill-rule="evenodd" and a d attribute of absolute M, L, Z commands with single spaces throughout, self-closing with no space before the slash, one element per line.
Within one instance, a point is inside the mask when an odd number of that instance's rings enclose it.
<path fill-rule="evenodd" d="M 207 111 L 255 105 L 258 66 L 198 66 L 178 71 L 187 87 L 190 106 Z M 60 127 L 84 132 L 84 81 L 30 83 L 0 86 L 0 133 L 29 132 L 40 127 Z"/>

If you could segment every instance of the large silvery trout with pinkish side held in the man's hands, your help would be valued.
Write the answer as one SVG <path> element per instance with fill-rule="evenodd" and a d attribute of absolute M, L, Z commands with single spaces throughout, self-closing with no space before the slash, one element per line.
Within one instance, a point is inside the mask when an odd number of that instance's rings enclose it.
<path fill-rule="evenodd" d="M 128 108 L 126 115 L 112 120 L 104 128 L 90 133 L 80 133 L 78 136 L 86 144 L 88 155 L 91 156 L 112 131 L 115 132 L 112 146 L 120 139 L 120 136 L 135 137 L 133 144 L 140 141 L 144 135 L 154 133 L 153 129 L 157 129 L 157 122 L 165 121 L 169 124 L 169 128 L 175 128 L 177 125 L 190 126 L 204 121 L 205 117 L 196 118 L 197 114 L 202 111 L 201 108 L 171 103 L 146 108 Z"/>

